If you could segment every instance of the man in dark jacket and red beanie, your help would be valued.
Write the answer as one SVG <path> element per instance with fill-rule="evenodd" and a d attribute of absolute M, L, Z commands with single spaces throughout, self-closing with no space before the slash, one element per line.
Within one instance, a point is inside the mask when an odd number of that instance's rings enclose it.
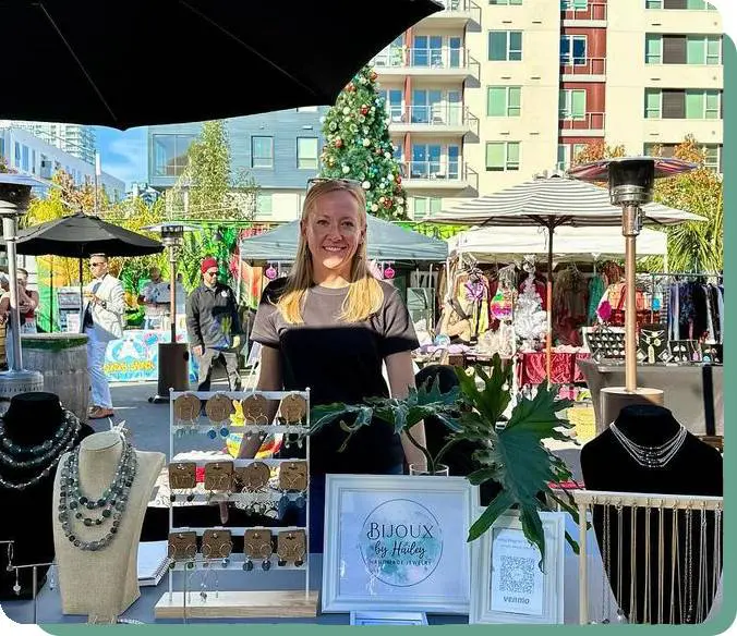
<path fill-rule="evenodd" d="M 238 348 L 241 323 L 235 295 L 218 281 L 218 262 L 208 257 L 202 261 L 202 284 L 186 302 L 186 331 L 190 346 L 200 365 L 198 391 L 209 391 L 213 364 L 222 358 L 231 391 L 241 390 L 238 372 Z"/>

